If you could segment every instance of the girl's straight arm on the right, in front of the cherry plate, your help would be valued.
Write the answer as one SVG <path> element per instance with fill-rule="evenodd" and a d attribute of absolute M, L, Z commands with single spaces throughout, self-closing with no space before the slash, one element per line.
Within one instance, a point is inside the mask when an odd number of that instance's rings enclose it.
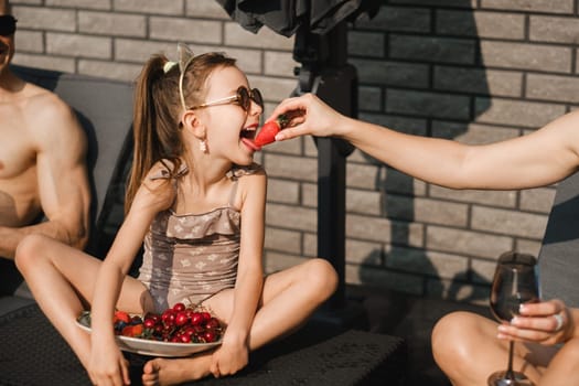
<path fill-rule="evenodd" d="M 262 171 L 239 180 L 243 186 L 242 245 L 229 324 L 212 365 L 215 376 L 233 374 L 248 362 L 249 331 L 264 285 L 266 184 L 267 176 Z"/>

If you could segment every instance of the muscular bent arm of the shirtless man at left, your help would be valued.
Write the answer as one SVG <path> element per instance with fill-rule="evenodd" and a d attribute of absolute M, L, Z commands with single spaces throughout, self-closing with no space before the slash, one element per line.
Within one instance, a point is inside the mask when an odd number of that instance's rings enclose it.
<path fill-rule="evenodd" d="M 14 258 L 18 244 L 41 233 L 77 248 L 88 239 L 90 189 L 86 138 L 72 109 L 55 95 L 35 97 L 26 108 L 26 131 L 36 146 L 39 197 L 47 221 L 0 227 L 0 256 Z"/>

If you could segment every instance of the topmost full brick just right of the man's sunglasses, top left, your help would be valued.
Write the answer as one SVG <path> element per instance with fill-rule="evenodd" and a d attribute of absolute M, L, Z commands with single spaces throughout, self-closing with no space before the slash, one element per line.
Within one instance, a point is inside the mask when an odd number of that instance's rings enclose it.
<path fill-rule="evenodd" d="M 19 29 L 73 32 L 77 28 L 73 10 L 14 7 L 13 14 L 18 19 Z"/>

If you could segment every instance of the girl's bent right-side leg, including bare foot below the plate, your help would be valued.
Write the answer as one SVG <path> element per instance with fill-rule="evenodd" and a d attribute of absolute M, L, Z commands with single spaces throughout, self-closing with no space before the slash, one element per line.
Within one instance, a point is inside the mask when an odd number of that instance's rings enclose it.
<path fill-rule="evenodd" d="M 267 276 L 249 333 L 249 350 L 298 329 L 335 291 L 336 285 L 333 267 L 318 258 Z M 233 290 L 225 290 L 205 304 L 224 319 L 233 310 Z M 211 355 L 207 352 L 183 360 L 152 360 L 144 365 L 143 385 L 172 385 L 205 377 L 211 374 Z"/>

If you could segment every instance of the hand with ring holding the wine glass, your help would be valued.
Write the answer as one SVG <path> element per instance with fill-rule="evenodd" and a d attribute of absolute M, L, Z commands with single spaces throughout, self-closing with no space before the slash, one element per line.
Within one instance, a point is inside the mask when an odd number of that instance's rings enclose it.
<path fill-rule="evenodd" d="M 498 326 L 498 337 L 540 344 L 565 343 L 575 334 L 575 320 L 561 300 L 521 305 L 511 324 Z"/>

